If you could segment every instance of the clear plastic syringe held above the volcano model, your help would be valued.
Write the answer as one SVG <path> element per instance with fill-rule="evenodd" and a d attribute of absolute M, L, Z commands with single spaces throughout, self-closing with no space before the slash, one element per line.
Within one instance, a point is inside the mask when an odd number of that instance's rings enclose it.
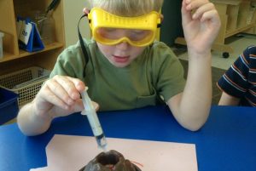
<path fill-rule="evenodd" d="M 88 87 L 85 87 L 84 92 L 81 93 L 85 111 L 85 113 L 82 112 L 82 114 L 85 114 L 89 120 L 90 128 L 92 129 L 92 132 L 96 137 L 97 145 L 102 148 L 103 151 L 107 151 L 107 140 L 102 131 L 102 126 L 99 118 L 97 117 L 96 110 L 92 105 L 89 95 L 87 94 L 87 89 Z"/>

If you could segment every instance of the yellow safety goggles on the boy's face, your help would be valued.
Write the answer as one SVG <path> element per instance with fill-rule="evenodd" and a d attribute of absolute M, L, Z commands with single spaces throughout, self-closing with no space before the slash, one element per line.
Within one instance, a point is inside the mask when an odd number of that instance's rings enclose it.
<path fill-rule="evenodd" d="M 127 42 L 132 46 L 147 46 L 153 43 L 160 26 L 160 14 L 155 11 L 137 17 L 121 17 L 93 8 L 88 19 L 92 37 L 108 45 Z"/>

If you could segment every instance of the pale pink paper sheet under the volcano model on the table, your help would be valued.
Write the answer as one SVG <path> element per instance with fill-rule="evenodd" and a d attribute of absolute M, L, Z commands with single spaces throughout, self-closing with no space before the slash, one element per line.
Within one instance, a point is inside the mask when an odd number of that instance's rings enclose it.
<path fill-rule="evenodd" d="M 197 171 L 194 144 L 107 138 L 108 151 L 119 151 L 143 171 Z M 48 167 L 31 171 L 76 171 L 102 152 L 94 137 L 56 134 L 46 147 Z M 141 166 L 143 165 L 143 167 Z"/>

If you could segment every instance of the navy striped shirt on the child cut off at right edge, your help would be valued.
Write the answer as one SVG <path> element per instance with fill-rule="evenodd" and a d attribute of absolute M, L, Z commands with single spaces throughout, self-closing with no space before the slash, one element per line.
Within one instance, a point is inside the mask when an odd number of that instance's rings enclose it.
<path fill-rule="evenodd" d="M 256 46 L 247 47 L 218 80 L 218 88 L 241 99 L 239 105 L 256 106 Z"/>

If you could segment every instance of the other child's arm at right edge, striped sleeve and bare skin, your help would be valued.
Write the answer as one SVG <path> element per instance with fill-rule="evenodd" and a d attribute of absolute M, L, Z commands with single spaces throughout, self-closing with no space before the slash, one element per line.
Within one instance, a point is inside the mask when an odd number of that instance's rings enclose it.
<path fill-rule="evenodd" d="M 223 92 L 218 105 L 253 105 L 253 57 L 256 47 L 249 46 L 236 59 L 234 64 L 225 71 L 217 82 L 218 88 Z"/>

